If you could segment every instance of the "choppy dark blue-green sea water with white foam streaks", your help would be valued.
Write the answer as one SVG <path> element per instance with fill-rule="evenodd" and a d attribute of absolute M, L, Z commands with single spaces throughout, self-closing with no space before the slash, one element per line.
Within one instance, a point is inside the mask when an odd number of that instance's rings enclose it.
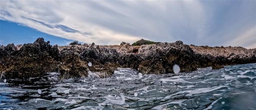
<path fill-rule="evenodd" d="M 32 78 L 26 84 L 0 82 L 0 109 L 256 110 L 256 63 L 177 75 L 139 77 L 128 68 L 119 68 L 106 79 L 93 73 L 90 78 L 67 80 L 58 75 Z"/>

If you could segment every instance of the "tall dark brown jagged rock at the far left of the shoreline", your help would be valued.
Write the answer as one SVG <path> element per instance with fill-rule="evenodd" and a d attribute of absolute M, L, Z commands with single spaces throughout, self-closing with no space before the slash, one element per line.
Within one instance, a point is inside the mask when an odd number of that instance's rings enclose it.
<path fill-rule="evenodd" d="M 8 56 L 0 59 L 0 73 L 5 78 L 28 79 L 42 76 L 46 72 L 57 71 L 57 62 L 54 60 L 55 53 L 49 42 L 38 38 L 33 44 L 24 44 L 20 50 L 7 45 L 5 49 L 11 52 Z"/>

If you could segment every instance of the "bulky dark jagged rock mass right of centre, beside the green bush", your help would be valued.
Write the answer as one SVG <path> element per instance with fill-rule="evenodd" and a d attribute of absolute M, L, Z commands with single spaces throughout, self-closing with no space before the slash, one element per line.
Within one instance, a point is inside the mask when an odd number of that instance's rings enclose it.
<path fill-rule="evenodd" d="M 188 45 L 183 45 L 181 41 L 142 45 L 138 53 L 128 53 L 125 56 L 125 63 L 143 74 L 173 73 L 174 64 L 181 67 L 181 72 L 194 71 L 197 68 L 196 55 Z"/>

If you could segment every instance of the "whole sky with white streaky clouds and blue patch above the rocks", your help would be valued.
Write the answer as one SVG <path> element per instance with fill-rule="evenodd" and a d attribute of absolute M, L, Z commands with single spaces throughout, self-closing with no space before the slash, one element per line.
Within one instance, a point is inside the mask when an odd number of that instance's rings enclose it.
<path fill-rule="evenodd" d="M 100 45 L 139 39 L 256 48 L 256 1 L 0 1 L 0 44 L 44 37 Z M 52 44 L 51 43 L 51 44 Z"/>

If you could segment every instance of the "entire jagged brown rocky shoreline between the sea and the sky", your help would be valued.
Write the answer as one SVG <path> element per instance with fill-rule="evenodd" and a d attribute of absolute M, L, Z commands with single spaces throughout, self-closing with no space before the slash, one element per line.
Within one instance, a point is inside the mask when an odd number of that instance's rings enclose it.
<path fill-rule="evenodd" d="M 256 49 L 193 46 L 182 41 L 141 46 L 49 43 L 38 38 L 34 43 L 1 46 L 1 79 L 29 79 L 49 72 L 59 72 L 60 79 L 88 77 L 90 73 L 106 78 L 119 67 L 142 74 L 166 74 L 173 73 L 174 64 L 181 72 L 188 72 L 208 66 L 219 69 L 224 65 L 256 63 Z"/>

